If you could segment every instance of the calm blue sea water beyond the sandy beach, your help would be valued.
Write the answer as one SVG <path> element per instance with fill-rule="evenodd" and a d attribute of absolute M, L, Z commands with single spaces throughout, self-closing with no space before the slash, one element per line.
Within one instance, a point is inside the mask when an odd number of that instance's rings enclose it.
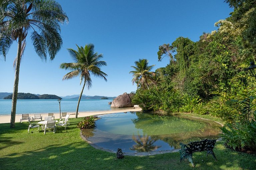
<path fill-rule="evenodd" d="M 111 110 L 109 101 L 113 99 L 81 99 L 78 112 Z M 78 99 L 62 99 L 61 112 L 75 112 Z M 0 99 L 0 115 L 11 114 L 12 100 Z M 59 113 L 56 99 L 18 99 L 16 114 Z"/>

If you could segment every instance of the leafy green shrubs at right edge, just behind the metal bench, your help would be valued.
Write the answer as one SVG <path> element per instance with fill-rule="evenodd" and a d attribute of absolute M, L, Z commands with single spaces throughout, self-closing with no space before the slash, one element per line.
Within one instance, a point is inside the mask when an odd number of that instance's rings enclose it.
<path fill-rule="evenodd" d="M 220 136 L 228 147 L 235 150 L 256 151 L 256 96 L 249 96 L 250 93 L 244 91 L 241 96 L 245 98 L 229 100 L 225 104 L 233 112 L 223 115 L 223 119 L 229 120 L 229 123 L 221 128 Z"/>

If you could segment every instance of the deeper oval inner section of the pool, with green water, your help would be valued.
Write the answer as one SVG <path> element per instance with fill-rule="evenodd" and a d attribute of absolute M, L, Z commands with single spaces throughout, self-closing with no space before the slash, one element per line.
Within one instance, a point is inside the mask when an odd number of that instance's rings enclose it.
<path fill-rule="evenodd" d="M 100 116 L 97 128 L 122 135 L 165 135 L 193 132 L 209 124 L 195 119 L 169 115 L 134 112 L 133 114 L 109 114 Z"/>

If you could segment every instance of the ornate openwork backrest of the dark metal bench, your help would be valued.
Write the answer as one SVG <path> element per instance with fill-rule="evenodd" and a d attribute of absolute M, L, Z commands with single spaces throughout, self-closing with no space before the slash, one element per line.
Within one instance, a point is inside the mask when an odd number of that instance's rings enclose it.
<path fill-rule="evenodd" d="M 205 139 L 202 141 L 190 142 L 187 145 L 180 143 L 180 146 L 186 152 L 193 153 L 193 152 L 212 150 L 215 145 L 215 142 L 216 142 L 216 139 L 214 139 L 214 140 Z"/>

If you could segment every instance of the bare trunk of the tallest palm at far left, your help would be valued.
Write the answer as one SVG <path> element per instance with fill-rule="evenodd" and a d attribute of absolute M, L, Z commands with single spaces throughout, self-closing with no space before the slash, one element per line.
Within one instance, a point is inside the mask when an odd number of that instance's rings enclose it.
<path fill-rule="evenodd" d="M 19 85 L 19 74 L 20 74 L 21 46 L 22 46 L 22 31 L 20 31 L 19 33 L 17 59 L 16 59 L 16 67 L 15 67 L 15 77 L 14 77 L 13 94 L 12 94 L 12 110 L 11 110 L 11 125 L 10 125 L 11 128 L 15 127 L 16 104 L 17 104 L 17 97 L 18 97 L 18 85 Z"/>

